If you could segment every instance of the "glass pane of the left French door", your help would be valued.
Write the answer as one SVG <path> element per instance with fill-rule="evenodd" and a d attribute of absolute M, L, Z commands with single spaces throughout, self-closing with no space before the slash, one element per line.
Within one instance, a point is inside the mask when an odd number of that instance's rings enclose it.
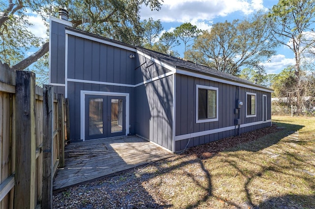
<path fill-rule="evenodd" d="M 103 99 L 89 98 L 89 135 L 103 134 Z"/>

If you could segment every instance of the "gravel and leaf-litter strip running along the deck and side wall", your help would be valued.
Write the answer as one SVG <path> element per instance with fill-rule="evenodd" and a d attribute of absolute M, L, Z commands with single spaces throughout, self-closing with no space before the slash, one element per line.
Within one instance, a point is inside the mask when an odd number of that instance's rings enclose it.
<path fill-rule="evenodd" d="M 54 209 L 140 209 L 140 208 L 172 208 L 168 205 L 170 200 L 161 199 L 161 192 L 168 190 L 171 193 L 174 176 L 170 167 L 185 163 L 185 169 L 196 170 L 194 167 L 197 159 L 211 157 L 225 148 L 230 148 L 238 143 L 254 140 L 265 134 L 278 131 L 275 126 L 252 131 L 241 136 L 229 137 L 188 149 L 186 152 L 168 159 L 136 167 L 124 173 L 104 178 L 90 183 L 68 188 L 54 194 Z M 183 166 L 184 167 L 184 166 Z M 183 168 L 184 169 L 184 168 Z M 195 173 L 194 173 L 195 174 Z M 163 175 L 163 180 L 156 178 Z M 202 178 L 202 176 L 200 177 Z M 157 182 L 160 181 L 160 182 Z M 169 183 L 167 183 L 169 182 Z M 169 184 L 169 186 L 167 186 Z M 158 185 L 158 186 L 157 186 Z M 160 188 L 159 189 L 159 185 Z"/>

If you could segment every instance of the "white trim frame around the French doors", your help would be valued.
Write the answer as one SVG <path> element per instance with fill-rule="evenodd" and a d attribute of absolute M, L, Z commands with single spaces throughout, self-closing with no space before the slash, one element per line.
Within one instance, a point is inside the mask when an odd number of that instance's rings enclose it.
<path fill-rule="evenodd" d="M 119 96 L 126 97 L 126 135 L 129 134 L 129 93 L 106 91 L 80 91 L 80 138 L 85 141 L 85 95 Z"/>

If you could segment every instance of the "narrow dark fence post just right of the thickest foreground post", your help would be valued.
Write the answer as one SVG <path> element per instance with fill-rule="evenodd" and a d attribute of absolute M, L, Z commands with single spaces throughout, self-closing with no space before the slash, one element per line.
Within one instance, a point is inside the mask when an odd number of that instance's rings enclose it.
<path fill-rule="evenodd" d="M 53 86 L 43 85 L 43 209 L 50 209 L 52 207 L 53 198 L 53 103 Z"/>

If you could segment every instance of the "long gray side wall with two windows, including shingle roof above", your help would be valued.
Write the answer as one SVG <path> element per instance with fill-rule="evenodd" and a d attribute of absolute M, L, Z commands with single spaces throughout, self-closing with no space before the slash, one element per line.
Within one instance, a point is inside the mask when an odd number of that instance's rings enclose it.
<path fill-rule="evenodd" d="M 174 152 L 248 131 L 271 126 L 271 92 L 264 86 L 150 50 L 143 50 L 158 61 L 173 66 L 175 83 Z M 218 121 L 196 123 L 196 86 L 218 88 Z M 247 93 L 256 95 L 256 116 L 246 115 Z M 263 98 L 268 98 L 263 107 Z M 244 105 L 234 114 L 236 102 Z M 267 108 L 263 110 L 263 108 Z M 263 112 L 266 113 L 263 117 Z M 240 127 L 235 120 L 240 120 Z M 265 120 L 265 121 L 263 121 Z"/>

